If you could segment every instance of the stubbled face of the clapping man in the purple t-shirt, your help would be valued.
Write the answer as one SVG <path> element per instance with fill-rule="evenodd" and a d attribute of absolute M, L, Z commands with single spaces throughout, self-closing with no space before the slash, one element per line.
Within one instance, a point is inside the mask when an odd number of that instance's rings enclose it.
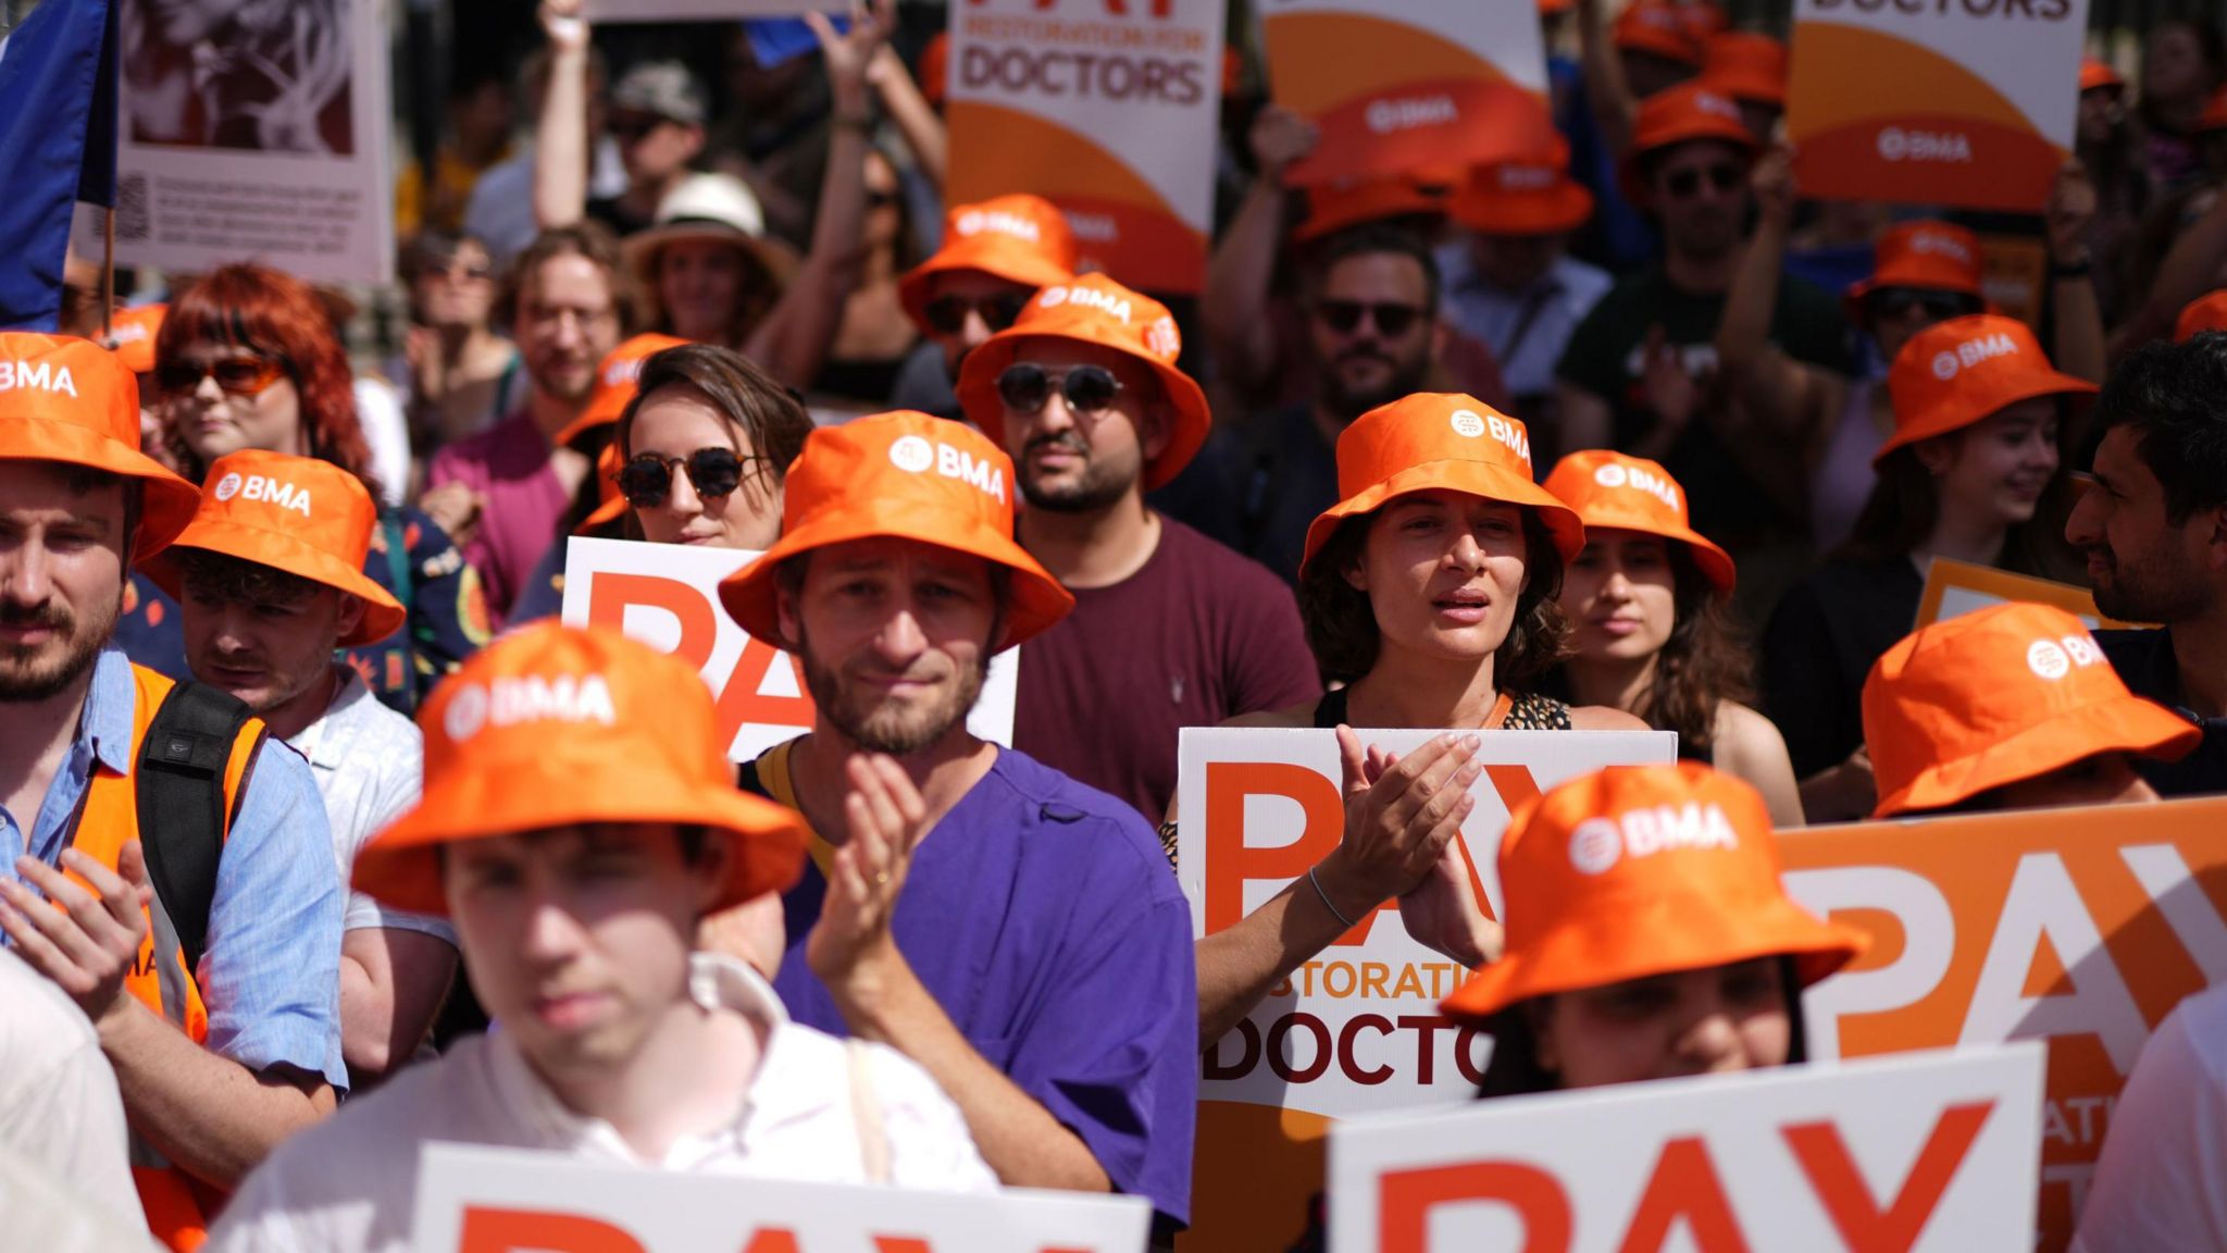
<path fill-rule="evenodd" d="M 855 540 L 806 557 L 779 593 L 820 713 L 869 751 L 906 756 L 964 725 L 998 651 L 989 562 L 915 540 Z"/>

